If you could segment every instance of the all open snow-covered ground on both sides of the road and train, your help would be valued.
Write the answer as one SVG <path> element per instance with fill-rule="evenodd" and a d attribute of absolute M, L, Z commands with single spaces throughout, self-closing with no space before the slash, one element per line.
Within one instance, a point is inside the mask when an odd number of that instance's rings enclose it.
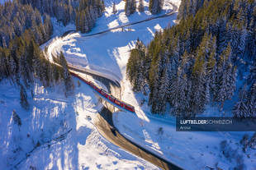
<path fill-rule="evenodd" d="M 180 0 L 169 1 L 179 6 Z M 136 12 L 129 17 L 124 14 L 125 2 L 121 0 L 115 0 L 118 12 L 113 15 L 112 2 L 105 0 L 107 11 L 88 34 L 151 17 L 148 0 L 145 1 L 144 13 Z M 171 10 L 168 2 L 165 2 L 164 9 L 162 14 Z M 173 117 L 155 117 L 149 112 L 146 102 L 141 105 L 141 101 L 147 100 L 147 97 L 131 90 L 130 82 L 126 80 L 126 63 L 130 49 L 135 47 L 136 39 L 148 44 L 154 38 L 155 31 L 173 25 L 176 17 L 177 14 L 174 14 L 93 37 L 83 37 L 86 34 L 79 33 L 69 34 L 63 39 L 51 39 L 47 43 L 50 44 L 48 52 L 55 54 L 63 51 L 68 62 L 118 77 L 121 80 L 122 100 L 135 106 L 136 115 L 116 112 L 113 121 L 123 135 L 145 149 L 189 170 L 204 169 L 205 166 L 215 167 L 216 163 L 225 163 L 232 167 L 238 161 L 231 160 L 232 157 L 242 159 L 247 169 L 254 170 L 255 151 L 249 150 L 248 155 L 245 155 L 239 148 L 243 133 L 177 132 Z M 63 27 L 55 21 L 54 25 L 55 36 L 66 30 L 74 30 L 74 25 Z M 74 82 L 77 86 L 77 79 Z M 8 169 L 25 159 L 26 153 L 40 141 L 40 146 L 18 168 L 155 169 L 150 163 L 111 145 L 98 134 L 93 121 L 97 117 L 100 104 L 87 85 L 82 83 L 80 87 L 76 87 L 73 96 L 65 98 L 61 90 L 45 90 L 40 84 L 36 84 L 34 99 L 27 92 L 29 102 L 33 105 L 29 112 L 20 106 L 19 90 L 7 82 L 2 81 L 0 85 L 1 168 Z M 12 119 L 13 109 L 21 117 L 20 128 Z M 213 108 L 210 107 L 207 111 L 212 112 Z M 67 131 L 70 132 L 66 134 Z M 64 140 L 59 139 L 59 136 L 64 136 Z M 53 141 L 47 143 L 49 140 Z M 229 149 L 233 153 L 230 159 L 226 159 L 220 152 L 222 140 L 227 140 L 230 144 Z"/>

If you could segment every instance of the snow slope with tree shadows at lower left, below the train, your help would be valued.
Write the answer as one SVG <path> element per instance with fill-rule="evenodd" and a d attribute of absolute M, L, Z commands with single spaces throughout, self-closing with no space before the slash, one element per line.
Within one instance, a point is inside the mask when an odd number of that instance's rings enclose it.
<path fill-rule="evenodd" d="M 27 90 L 29 111 L 21 108 L 18 87 L 1 81 L 0 169 L 155 169 L 99 135 L 93 122 L 101 104 L 88 85 L 73 80 L 68 98 L 36 83 L 33 99 Z"/>

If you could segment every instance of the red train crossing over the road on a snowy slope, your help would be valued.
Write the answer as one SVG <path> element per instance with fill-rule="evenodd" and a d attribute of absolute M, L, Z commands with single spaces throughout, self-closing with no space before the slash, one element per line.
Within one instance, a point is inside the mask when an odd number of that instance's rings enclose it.
<path fill-rule="evenodd" d="M 120 106 L 121 108 L 125 108 L 126 110 L 135 113 L 135 108 L 128 103 L 125 103 L 119 99 L 116 99 L 111 94 L 108 94 L 105 90 L 99 89 L 96 85 L 94 85 L 91 81 L 83 79 L 81 76 L 74 74 L 71 72 L 71 75 L 78 77 L 80 80 L 83 80 L 86 84 L 90 85 L 92 89 L 96 90 L 99 94 L 101 94 L 104 98 L 111 101 L 111 103 L 115 103 L 116 105 Z"/>

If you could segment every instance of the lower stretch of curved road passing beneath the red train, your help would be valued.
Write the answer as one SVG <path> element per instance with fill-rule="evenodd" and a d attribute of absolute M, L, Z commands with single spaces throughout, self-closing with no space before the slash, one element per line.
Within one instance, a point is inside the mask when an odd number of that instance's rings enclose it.
<path fill-rule="evenodd" d="M 81 72 L 83 74 L 87 74 L 87 71 L 79 70 L 77 68 L 69 67 L 71 71 Z M 106 77 L 92 75 L 93 78 L 96 80 L 100 80 L 104 85 L 109 87 L 111 94 L 114 96 L 120 96 L 121 87 L 116 85 L 113 80 L 109 80 Z M 140 145 L 135 144 L 134 142 L 128 140 L 125 136 L 122 136 L 121 133 L 115 128 L 113 121 L 112 121 L 112 112 L 114 112 L 114 107 L 111 105 L 105 104 L 102 108 L 100 114 L 97 117 L 97 122 L 95 122 L 95 126 L 97 127 L 97 131 L 109 140 L 112 144 L 125 149 L 126 151 L 130 152 L 131 154 L 135 154 L 136 156 L 140 157 L 141 159 L 145 159 L 150 163 L 153 163 L 159 168 L 166 169 L 166 170 L 182 170 L 183 168 L 179 168 L 174 163 L 170 163 L 165 159 L 162 159 L 157 154 L 149 152 L 149 150 L 144 149 Z"/>

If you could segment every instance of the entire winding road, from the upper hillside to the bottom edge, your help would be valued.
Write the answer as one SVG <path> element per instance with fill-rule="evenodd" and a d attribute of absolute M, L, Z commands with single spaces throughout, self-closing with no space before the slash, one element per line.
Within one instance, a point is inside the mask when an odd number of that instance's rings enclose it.
<path fill-rule="evenodd" d="M 170 2 L 171 3 L 171 2 Z M 173 11 L 169 12 L 168 14 L 164 14 L 162 16 L 153 16 L 149 19 L 146 19 L 144 21 L 136 21 L 127 25 L 120 25 L 116 26 L 114 28 L 111 28 L 109 30 L 104 30 L 101 32 L 98 32 L 96 34 L 87 34 L 83 35 L 84 37 L 88 36 L 94 36 L 97 34 L 104 34 L 111 30 L 120 29 L 129 25 L 135 25 L 146 21 L 155 20 L 158 18 L 163 18 L 167 16 L 171 16 L 175 13 L 177 13 L 178 7 L 175 6 L 173 3 Z M 61 37 L 64 37 L 70 33 L 74 32 L 73 30 L 69 30 L 65 32 Z M 121 85 L 116 80 L 111 80 L 107 78 L 106 76 L 101 76 L 99 74 L 95 74 L 94 72 L 90 72 L 85 69 L 77 68 L 77 67 L 71 67 L 69 66 L 69 71 L 77 71 L 81 72 L 83 74 L 88 74 L 92 76 L 94 79 L 101 81 L 104 85 L 106 85 L 107 89 L 110 91 L 110 93 L 115 96 L 118 99 L 121 99 Z M 99 133 L 105 137 L 107 140 L 109 140 L 112 144 L 117 145 L 121 147 L 122 149 L 125 149 L 126 151 L 130 152 L 131 154 L 135 154 L 136 156 L 140 157 L 141 159 L 145 159 L 149 161 L 150 163 L 153 163 L 159 168 L 166 169 L 166 170 L 182 170 L 183 168 L 178 167 L 174 163 L 170 163 L 167 160 L 159 157 L 157 154 L 154 154 L 150 152 L 149 150 L 144 149 L 140 145 L 135 144 L 134 142 L 126 139 L 125 136 L 122 136 L 118 130 L 116 130 L 113 121 L 112 121 L 112 113 L 114 112 L 114 107 L 105 104 L 102 108 L 100 114 L 98 115 L 98 121 L 95 123 L 95 126 L 97 127 L 97 130 Z"/>

